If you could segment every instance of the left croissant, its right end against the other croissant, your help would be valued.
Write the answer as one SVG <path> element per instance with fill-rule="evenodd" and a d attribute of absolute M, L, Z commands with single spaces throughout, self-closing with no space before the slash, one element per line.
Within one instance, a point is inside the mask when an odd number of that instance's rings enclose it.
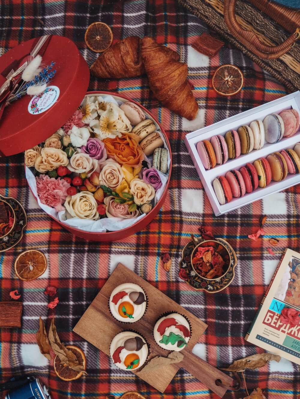
<path fill-rule="evenodd" d="M 140 41 L 138 36 L 129 36 L 110 46 L 90 67 L 92 75 L 117 79 L 143 75 Z"/>

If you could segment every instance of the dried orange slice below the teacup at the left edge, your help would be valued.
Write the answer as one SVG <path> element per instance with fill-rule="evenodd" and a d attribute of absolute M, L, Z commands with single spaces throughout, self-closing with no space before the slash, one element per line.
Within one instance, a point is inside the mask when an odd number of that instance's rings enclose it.
<path fill-rule="evenodd" d="M 41 251 L 28 249 L 14 262 L 14 271 L 20 280 L 29 281 L 41 276 L 47 269 L 47 259 Z"/>

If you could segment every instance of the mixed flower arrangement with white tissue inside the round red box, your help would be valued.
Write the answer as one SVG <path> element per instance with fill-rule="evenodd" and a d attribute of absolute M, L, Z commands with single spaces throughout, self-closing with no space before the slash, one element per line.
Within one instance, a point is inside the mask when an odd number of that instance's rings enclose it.
<path fill-rule="evenodd" d="M 120 102 L 121 104 L 121 102 Z M 122 230 L 156 205 L 169 177 L 152 164 L 112 96 L 85 96 L 65 124 L 26 150 L 26 178 L 42 209 L 85 231 Z M 148 209 L 147 208 L 147 209 Z"/>

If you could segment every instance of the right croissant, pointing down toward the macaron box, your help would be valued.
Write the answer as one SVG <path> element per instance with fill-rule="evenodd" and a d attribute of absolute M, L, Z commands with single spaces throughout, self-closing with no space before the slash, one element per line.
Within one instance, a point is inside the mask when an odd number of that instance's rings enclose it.
<path fill-rule="evenodd" d="M 174 59 L 174 51 L 148 37 L 142 39 L 141 53 L 155 97 L 171 111 L 186 119 L 195 119 L 198 104 L 188 83 L 186 63 Z"/>

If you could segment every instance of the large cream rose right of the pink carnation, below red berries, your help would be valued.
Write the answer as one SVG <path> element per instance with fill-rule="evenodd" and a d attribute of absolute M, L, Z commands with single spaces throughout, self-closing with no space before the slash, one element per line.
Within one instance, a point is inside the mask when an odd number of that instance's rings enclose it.
<path fill-rule="evenodd" d="M 91 220 L 99 219 L 96 199 L 93 194 L 88 191 L 82 191 L 72 197 L 68 196 L 64 206 L 72 217 Z"/>

